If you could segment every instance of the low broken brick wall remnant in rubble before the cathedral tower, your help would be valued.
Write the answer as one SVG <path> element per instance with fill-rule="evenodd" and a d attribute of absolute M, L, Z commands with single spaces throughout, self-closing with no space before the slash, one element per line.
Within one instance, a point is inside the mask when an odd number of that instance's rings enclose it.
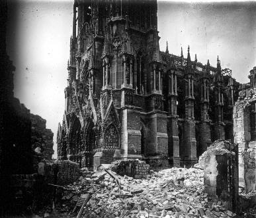
<path fill-rule="evenodd" d="M 110 165 L 110 169 L 118 175 L 134 178 L 146 178 L 149 173 L 149 165 L 139 159 L 114 161 Z"/>

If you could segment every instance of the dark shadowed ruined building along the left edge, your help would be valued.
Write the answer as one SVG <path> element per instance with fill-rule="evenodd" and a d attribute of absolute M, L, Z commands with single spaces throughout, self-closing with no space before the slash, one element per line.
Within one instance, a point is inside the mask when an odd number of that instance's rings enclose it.
<path fill-rule="evenodd" d="M 38 115 L 32 115 L 13 93 L 15 67 L 7 55 L 6 0 L 0 2 L 0 14 L 0 217 L 13 217 L 23 206 L 26 208 L 32 204 L 31 186 L 33 175 L 37 173 L 33 169 L 36 155 L 34 146 L 42 146 L 41 159 L 52 159 L 53 133 L 45 128 L 46 121 Z M 40 128 L 43 134 L 40 134 L 38 119 L 44 122 Z"/>

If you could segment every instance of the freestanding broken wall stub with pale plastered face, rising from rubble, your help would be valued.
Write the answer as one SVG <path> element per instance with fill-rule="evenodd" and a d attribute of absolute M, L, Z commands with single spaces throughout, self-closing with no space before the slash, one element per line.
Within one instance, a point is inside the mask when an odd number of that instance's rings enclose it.
<path fill-rule="evenodd" d="M 238 198 L 237 146 L 230 140 L 215 141 L 200 157 L 204 169 L 204 191 L 235 210 Z"/>

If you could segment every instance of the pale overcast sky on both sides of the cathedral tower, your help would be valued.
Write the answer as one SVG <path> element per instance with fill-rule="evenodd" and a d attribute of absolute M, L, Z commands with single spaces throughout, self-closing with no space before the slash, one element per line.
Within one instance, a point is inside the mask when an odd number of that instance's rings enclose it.
<path fill-rule="evenodd" d="M 256 65 L 256 2 L 158 3 L 160 49 L 232 69 L 238 82 L 249 82 Z M 56 132 L 64 114 L 69 37 L 72 32 L 73 1 L 20 0 L 9 5 L 7 52 L 15 70 L 15 97 L 31 113 L 46 119 Z M 56 154 L 54 155 L 56 157 Z"/>

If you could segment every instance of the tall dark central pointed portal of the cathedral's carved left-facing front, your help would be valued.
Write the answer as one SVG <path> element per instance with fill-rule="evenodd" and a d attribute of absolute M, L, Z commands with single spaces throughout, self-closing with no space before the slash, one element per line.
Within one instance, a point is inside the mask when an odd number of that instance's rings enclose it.
<path fill-rule="evenodd" d="M 75 117 L 75 116 L 74 116 Z M 74 118 L 69 136 L 69 155 L 72 161 L 78 161 L 81 151 L 81 123 L 77 117 Z"/>

